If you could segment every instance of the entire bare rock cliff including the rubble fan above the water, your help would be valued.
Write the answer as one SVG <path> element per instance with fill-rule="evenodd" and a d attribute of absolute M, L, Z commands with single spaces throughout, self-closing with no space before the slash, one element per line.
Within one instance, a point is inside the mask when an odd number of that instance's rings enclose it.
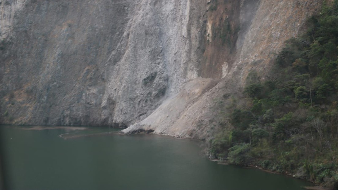
<path fill-rule="evenodd" d="M 196 138 L 210 131 L 213 100 L 239 91 L 251 68 L 263 71 L 322 3 L 0 2 L 1 123 Z"/>

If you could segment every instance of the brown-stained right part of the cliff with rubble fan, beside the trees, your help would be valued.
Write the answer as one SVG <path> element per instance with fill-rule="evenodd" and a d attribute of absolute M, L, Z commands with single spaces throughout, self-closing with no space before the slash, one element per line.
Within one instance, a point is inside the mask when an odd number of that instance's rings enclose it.
<path fill-rule="evenodd" d="M 209 67 L 208 75 L 221 76 L 222 79 L 195 101 L 186 101 L 185 109 L 179 110 L 181 114 L 173 112 L 167 116 L 166 110 L 172 107 L 167 103 L 144 121 L 122 132 L 130 134 L 144 129 L 176 137 L 212 137 L 213 129 L 219 123 L 214 117 L 218 112 L 218 101 L 225 101 L 225 105 L 233 104 L 231 97 L 241 96 L 244 79 L 251 69 L 260 71 L 264 76 L 274 52 L 281 49 L 285 40 L 297 36 L 307 18 L 320 9 L 322 2 L 257 0 L 218 2 L 217 7 L 210 5 L 214 11 L 208 14 L 208 44 L 203 57 L 209 61 L 204 62 L 203 66 Z M 239 11 L 237 18 L 228 15 L 234 14 L 234 10 Z M 222 35 L 224 30 L 227 30 L 225 37 Z M 185 90 L 182 89 L 180 94 Z M 180 96 L 170 102 L 175 105 L 181 99 Z"/>

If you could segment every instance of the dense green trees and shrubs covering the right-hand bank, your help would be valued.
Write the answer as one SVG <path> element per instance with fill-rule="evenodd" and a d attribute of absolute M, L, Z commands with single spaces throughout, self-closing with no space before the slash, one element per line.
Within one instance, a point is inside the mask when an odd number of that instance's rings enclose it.
<path fill-rule="evenodd" d="M 233 111 L 210 150 L 338 189 L 338 1 L 324 4 L 308 28 L 286 42 L 264 80 L 249 73 L 245 103 L 224 108 Z"/>

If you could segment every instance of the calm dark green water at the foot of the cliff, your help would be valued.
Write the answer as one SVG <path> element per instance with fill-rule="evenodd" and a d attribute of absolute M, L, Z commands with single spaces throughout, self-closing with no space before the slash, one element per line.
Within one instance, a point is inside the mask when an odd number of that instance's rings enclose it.
<path fill-rule="evenodd" d="M 108 128 L 27 129 L 0 126 L 10 189 L 301 190 L 311 185 L 216 164 L 201 156 L 198 141 L 189 139 L 103 135 L 114 131 Z"/>

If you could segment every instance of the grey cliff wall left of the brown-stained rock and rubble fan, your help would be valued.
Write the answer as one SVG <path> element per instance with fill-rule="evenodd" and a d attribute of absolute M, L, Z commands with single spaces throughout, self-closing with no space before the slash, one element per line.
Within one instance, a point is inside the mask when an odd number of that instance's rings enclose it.
<path fill-rule="evenodd" d="M 197 76 L 203 8 L 26 1 L 1 50 L 2 123 L 123 127 L 144 118 Z"/>

